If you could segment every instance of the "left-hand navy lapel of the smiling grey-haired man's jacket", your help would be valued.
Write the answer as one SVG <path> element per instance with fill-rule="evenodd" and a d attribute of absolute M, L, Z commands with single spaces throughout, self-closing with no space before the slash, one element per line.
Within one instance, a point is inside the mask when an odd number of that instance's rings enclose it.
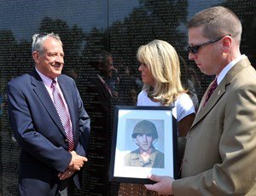
<path fill-rule="evenodd" d="M 31 77 L 32 86 L 34 86 L 33 90 L 35 94 L 38 96 L 38 99 L 42 102 L 44 108 L 49 113 L 49 116 L 52 118 L 55 124 L 59 127 L 61 132 L 65 135 L 65 130 L 63 129 L 63 126 L 61 124 L 61 119 L 55 109 L 53 101 L 50 99 L 49 93 L 45 88 L 42 79 L 38 75 L 38 72 L 36 71 L 32 72 L 31 76 L 32 76 Z"/>

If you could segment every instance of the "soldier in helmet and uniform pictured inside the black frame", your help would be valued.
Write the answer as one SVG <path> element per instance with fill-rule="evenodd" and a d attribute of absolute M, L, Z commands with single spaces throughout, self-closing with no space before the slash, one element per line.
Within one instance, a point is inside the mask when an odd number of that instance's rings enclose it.
<path fill-rule="evenodd" d="M 154 147 L 159 138 L 154 123 L 148 120 L 138 122 L 131 137 L 138 148 L 125 155 L 125 166 L 164 168 L 165 155 Z"/>

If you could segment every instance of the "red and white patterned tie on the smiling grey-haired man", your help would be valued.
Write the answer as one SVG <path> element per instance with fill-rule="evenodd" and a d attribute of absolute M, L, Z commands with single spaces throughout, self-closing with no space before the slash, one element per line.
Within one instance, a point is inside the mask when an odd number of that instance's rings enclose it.
<path fill-rule="evenodd" d="M 53 95 L 55 108 L 59 114 L 59 117 L 61 119 L 61 124 L 63 125 L 65 133 L 67 135 L 68 151 L 71 152 L 71 151 L 73 151 L 74 144 L 73 144 L 73 131 L 72 131 L 72 127 L 71 127 L 69 113 L 64 105 L 64 101 L 61 98 L 61 94 L 59 92 L 59 89 L 56 86 L 55 80 L 52 81 L 50 88 L 52 89 L 52 95 Z"/>

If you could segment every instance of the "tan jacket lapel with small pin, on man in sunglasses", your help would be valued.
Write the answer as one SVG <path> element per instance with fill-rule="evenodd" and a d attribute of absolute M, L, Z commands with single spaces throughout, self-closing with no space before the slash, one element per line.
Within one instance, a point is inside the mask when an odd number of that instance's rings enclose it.
<path fill-rule="evenodd" d="M 222 95 L 224 95 L 224 93 L 226 91 L 226 87 L 231 83 L 232 79 L 236 76 L 237 73 L 241 72 L 241 70 L 247 66 L 250 66 L 250 61 L 248 61 L 247 58 L 244 58 L 241 61 L 237 62 L 236 66 L 233 66 L 230 69 L 230 71 L 226 74 L 224 79 L 221 81 L 221 83 L 218 84 L 218 87 L 214 90 L 214 92 L 212 93 L 212 96 L 207 101 L 207 105 L 205 107 L 202 107 L 202 103 L 206 99 L 206 93 L 205 93 L 205 95 L 203 96 L 203 98 L 201 100 L 199 110 L 195 116 L 195 120 L 194 120 L 191 128 L 193 128 L 195 126 L 195 124 L 200 122 L 201 119 L 204 118 L 207 115 L 207 113 L 212 110 L 212 107 L 214 107 L 218 103 L 218 101 L 220 100 Z M 207 90 L 208 89 L 209 89 L 209 87 L 207 88 Z"/>

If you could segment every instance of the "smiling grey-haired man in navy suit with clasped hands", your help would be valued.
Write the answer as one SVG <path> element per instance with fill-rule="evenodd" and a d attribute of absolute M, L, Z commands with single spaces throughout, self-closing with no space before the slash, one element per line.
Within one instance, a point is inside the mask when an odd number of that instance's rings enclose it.
<path fill-rule="evenodd" d="M 54 33 L 32 37 L 35 69 L 8 84 L 9 120 L 20 151 L 20 195 L 73 195 L 90 135 L 90 118 Z"/>

